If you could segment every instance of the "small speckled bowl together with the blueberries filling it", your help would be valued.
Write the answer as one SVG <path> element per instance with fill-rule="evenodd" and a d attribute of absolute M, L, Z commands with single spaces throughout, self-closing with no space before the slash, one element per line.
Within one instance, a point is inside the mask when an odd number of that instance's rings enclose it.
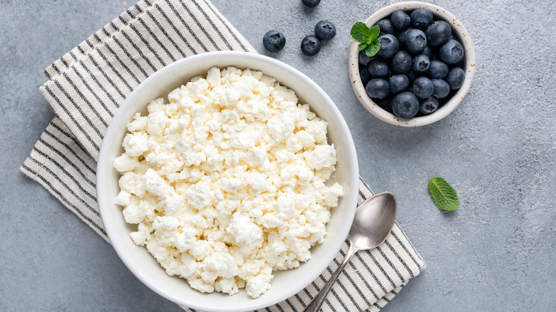
<path fill-rule="evenodd" d="M 349 73 L 359 102 L 371 114 L 417 127 L 458 107 L 475 75 L 475 49 L 461 21 L 434 4 L 409 1 L 376 11 L 364 24 L 380 46 L 361 51 L 351 33 Z"/>

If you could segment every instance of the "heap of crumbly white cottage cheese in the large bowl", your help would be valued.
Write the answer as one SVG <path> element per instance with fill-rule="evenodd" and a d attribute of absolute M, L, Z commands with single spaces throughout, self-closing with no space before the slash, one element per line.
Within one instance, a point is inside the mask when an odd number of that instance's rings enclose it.
<path fill-rule="evenodd" d="M 259 71 L 211 68 L 135 115 L 113 165 L 125 222 L 170 276 L 257 298 L 321 243 L 342 187 L 324 120 Z"/>

